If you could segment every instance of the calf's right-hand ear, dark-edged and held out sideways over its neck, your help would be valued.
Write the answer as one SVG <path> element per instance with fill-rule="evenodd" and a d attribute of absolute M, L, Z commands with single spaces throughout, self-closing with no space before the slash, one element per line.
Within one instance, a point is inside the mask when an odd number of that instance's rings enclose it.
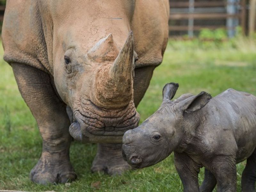
<path fill-rule="evenodd" d="M 212 96 L 209 93 L 201 92 L 196 96 L 180 101 L 178 108 L 187 113 L 193 112 L 203 108 L 211 99 Z"/>

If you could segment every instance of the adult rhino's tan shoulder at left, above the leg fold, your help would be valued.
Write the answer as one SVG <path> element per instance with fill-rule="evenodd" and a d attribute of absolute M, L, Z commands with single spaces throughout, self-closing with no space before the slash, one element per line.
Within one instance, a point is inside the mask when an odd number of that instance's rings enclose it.
<path fill-rule="evenodd" d="M 4 13 L 2 39 L 4 60 L 50 71 L 37 1 L 8 1 Z"/>

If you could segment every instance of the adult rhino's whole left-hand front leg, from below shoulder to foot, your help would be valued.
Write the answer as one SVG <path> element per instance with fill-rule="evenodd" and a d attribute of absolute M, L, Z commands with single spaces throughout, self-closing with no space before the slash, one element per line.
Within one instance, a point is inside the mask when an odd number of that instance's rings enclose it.
<path fill-rule="evenodd" d="M 20 63 L 12 63 L 20 93 L 36 118 L 43 138 L 41 158 L 30 172 L 40 184 L 65 183 L 76 179 L 69 161 L 71 136 L 66 105 L 59 99 L 49 74 Z"/>

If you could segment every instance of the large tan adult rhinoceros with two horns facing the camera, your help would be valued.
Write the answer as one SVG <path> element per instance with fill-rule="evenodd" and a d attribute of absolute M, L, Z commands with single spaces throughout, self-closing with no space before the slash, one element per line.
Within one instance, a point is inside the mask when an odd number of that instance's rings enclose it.
<path fill-rule="evenodd" d="M 168 18 L 168 0 L 7 1 L 4 60 L 43 138 L 32 181 L 76 178 L 72 137 L 99 143 L 92 172 L 130 168 L 122 136 L 138 125 L 135 107 L 162 62 Z"/>

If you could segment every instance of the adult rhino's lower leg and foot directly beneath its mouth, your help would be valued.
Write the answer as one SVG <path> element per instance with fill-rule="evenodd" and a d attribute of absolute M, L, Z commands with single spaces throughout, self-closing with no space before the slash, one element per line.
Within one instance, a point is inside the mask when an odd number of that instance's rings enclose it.
<path fill-rule="evenodd" d="M 91 171 L 109 175 L 121 175 L 132 167 L 122 157 L 122 144 L 98 144 Z"/>

